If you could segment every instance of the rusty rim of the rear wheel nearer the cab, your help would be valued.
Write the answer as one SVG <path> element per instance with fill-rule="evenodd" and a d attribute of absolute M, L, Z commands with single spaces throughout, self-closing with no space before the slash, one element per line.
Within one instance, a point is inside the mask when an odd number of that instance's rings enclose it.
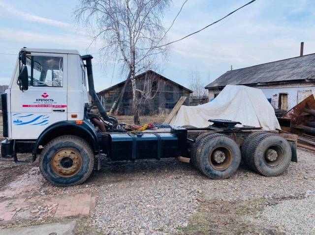
<path fill-rule="evenodd" d="M 232 151 L 224 145 L 216 146 L 209 154 L 209 163 L 216 170 L 226 170 L 233 160 Z"/>

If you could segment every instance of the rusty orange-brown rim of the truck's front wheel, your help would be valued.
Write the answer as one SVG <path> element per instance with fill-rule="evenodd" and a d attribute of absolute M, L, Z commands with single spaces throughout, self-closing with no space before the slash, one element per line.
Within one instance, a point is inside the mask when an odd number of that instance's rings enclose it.
<path fill-rule="evenodd" d="M 82 168 L 82 157 L 74 149 L 62 149 L 53 156 L 51 166 L 57 175 L 71 177 Z"/>

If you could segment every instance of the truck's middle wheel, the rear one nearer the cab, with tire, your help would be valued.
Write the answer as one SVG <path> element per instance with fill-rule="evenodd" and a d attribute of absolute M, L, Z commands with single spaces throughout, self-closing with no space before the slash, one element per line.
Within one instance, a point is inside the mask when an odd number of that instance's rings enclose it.
<path fill-rule="evenodd" d="M 237 143 L 223 134 L 209 134 L 200 140 L 196 152 L 200 171 L 211 179 L 226 179 L 241 162 Z"/>

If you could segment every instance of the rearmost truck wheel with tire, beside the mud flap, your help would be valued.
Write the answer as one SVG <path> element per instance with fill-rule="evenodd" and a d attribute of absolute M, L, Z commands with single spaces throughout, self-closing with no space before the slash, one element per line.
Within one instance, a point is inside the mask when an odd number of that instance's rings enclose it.
<path fill-rule="evenodd" d="M 264 133 L 256 136 L 249 145 L 252 157 L 248 164 L 263 176 L 279 176 L 289 166 L 291 147 L 289 143 L 276 134 Z"/>

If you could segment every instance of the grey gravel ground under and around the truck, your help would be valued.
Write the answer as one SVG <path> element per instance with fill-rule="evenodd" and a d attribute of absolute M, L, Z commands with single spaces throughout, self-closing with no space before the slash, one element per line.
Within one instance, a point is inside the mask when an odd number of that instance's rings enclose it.
<path fill-rule="evenodd" d="M 272 178 L 241 165 L 229 179 L 210 180 L 187 163 L 162 159 L 104 161 L 99 172 L 74 187 L 52 186 L 38 171 L 34 171 L 38 177 L 29 181 L 38 184 L 34 196 L 42 191 L 46 195 L 92 192 L 95 212 L 79 224 L 99 234 L 315 234 L 314 157 L 314 152 L 298 148 L 299 162 L 291 162 L 282 176 Z M 37 163 L 20 166 L 0 161 L 1 187 L 34 167 Z M 26 226 L 30 221 L 18 223 Z M 16 221 L 6 225 L 14 226 Z"/>

